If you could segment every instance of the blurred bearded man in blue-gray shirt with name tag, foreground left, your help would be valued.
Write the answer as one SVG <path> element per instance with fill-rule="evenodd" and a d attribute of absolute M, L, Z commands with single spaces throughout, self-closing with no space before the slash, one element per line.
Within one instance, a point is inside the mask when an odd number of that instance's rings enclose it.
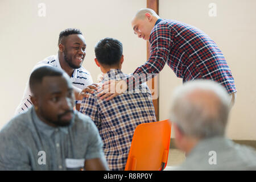
<path fill-rule="evenodd" d="M 0 170 L 108 169 L 97 127 L 73 110 L 67 73 L 39 67 L 29 84 L 33 106 L 0 131 Z"/>

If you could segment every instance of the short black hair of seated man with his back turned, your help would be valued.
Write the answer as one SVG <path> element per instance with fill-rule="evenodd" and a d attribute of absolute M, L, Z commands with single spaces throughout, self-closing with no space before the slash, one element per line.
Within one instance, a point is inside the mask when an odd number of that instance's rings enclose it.
<path fill-rule="evenodd" d="M 101 39 L 95 46 L 94 52 L 97 60 L 103 65 L 119 63 L 123 54 L 123 44 L 113 38 Z"/>

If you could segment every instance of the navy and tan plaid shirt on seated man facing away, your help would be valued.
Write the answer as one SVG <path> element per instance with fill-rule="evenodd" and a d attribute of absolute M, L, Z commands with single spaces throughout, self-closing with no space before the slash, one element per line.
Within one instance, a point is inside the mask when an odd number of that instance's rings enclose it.
<path fill-rule="evenodd" d="M 99 85 L 126 77 L 121 70 L 111 69 Z M 138 86 L 133 93 L 123 93 L 110 101 L 97 98 L 97 92 L 82 100 L 80 112 L 91 117 L 98 127 L 110 170 L 125 169 L 135 128 L 156 121 L 150 90 L 144 84 Z"/>

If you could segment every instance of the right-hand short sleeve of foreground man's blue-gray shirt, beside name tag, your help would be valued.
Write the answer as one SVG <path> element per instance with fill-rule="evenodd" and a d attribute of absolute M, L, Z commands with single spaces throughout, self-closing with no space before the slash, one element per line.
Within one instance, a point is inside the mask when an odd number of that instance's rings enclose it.
<path fill-rule="evenodd" d="M 100 134 L 98 133 L 97 127 L 91 123 L 88 129 L 88 147 L 85 154 L 85 160 L 88 159 L 96 159 L 96 158 L 104 158 L 105 155 L 102 150 L 102 140 Z"/>

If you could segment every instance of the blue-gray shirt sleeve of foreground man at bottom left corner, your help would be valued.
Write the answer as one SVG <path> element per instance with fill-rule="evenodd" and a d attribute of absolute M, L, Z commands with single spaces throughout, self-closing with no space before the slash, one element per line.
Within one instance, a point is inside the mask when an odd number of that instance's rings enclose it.
<path fill-rule="evenodd" d="M 31 170 L 26 148 L 18 137 L 0 134 L 0 171 Z"/>

